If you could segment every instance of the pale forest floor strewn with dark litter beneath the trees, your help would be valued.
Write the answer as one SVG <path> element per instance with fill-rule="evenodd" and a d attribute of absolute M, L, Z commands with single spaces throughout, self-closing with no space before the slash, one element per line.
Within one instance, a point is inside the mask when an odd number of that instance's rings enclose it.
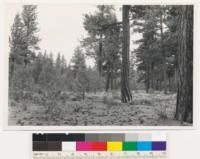
<path fill-rule="evenodd" d="M 25 106 L 24 106 L 25 105 Z M 133 92 L 133 102 L 121 103 L 120 94 L 86 94 L 84 101 L 57 101 L 56 107 L 9 101 L 9 125 L 71 126 L 180 126 L 173 119 L 176 94 Z"/>

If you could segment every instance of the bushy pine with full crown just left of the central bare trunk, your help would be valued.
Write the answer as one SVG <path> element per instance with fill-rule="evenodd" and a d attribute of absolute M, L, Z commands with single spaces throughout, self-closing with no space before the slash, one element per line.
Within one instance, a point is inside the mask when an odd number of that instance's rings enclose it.
<path fill-rule="evenodd" d="M 94 14 L 85 15 L 84 28 L 89 36 L 82 44 L 86 55 L 96 61 L 99 80 L 106 78 L 105 90 L 108 91 L 114 89 L 113 81 L 119 77 L 121 67 L 121 24 L 117 21 L 113 6 L 100 5 L 97 9 Z"/>

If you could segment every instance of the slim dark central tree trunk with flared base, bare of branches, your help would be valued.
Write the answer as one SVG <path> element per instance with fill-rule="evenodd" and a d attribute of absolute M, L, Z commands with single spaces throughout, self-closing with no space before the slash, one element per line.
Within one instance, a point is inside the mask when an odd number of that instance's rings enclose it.
<path fill-rule="evenodd" d="M 122 45 L 122 71 L 121 71 L 121 100 L 123 103 L 132 101 L 132 95 L 129 87 L 129 48 L 130 48 L 130 26 L 129 26 L 129 8 L 123 5 L 123 45 Z"/>

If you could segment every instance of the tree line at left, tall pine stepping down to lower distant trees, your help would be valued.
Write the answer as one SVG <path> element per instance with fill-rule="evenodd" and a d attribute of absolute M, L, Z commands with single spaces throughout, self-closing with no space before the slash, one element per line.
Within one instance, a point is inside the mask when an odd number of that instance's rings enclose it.
<path fill-rule="evenodd" d="M 21 14 L 16 14 L 11 28 L 9 55 L 9 91 L 45 93 L 73 91 L 84 99 L 85 92 L 102 89 L 104 80 L 99 80 L 96 68 L 87 67 L 80 47 L 74 51 L 67 65 L 64 55 L 41 52 L 38 47 L 37 6 L 24 5 Z"/>

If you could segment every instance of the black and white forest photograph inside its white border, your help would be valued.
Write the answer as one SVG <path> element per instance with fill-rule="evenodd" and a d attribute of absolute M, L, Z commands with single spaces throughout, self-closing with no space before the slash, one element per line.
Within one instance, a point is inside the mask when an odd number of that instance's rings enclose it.
<path fill-rule="evenodd" d="M 7 4 L 8 126 L 193 126 L 193 5 Z"/>

